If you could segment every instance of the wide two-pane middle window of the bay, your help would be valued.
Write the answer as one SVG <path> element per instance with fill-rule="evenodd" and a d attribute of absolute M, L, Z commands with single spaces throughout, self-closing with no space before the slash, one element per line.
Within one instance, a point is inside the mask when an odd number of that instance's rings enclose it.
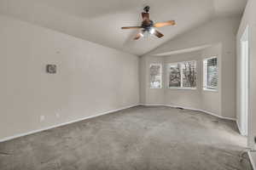
<path fill-rule="evenodd" d="M 168 88 L 196 88 L 196 61 L 169 64 Z"/>

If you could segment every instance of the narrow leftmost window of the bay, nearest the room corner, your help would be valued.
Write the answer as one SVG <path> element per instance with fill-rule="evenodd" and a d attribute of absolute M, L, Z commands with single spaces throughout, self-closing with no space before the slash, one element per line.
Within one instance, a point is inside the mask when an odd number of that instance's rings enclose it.
<path fill-rule="evenodd" d="M 162 84 L 162 65 L 160 64 L 152 64 L 149 68 L 149 80 L 150 80 L 150 88 L 161 88 Z"/>

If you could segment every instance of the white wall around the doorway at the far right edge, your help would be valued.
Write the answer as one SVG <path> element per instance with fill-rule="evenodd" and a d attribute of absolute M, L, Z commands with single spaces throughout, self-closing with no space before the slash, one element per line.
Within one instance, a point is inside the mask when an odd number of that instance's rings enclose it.
<path fill-rule="evenodd" d="M 236 115 L 238 124 L 241 127 L 241 51 L 240 40 L 246 27 L 249 31 L 249 113 L 248 113 L 248 144 L 250 147 L 255 147 L 254 136 L 256 136 L 256 1 L 248 0 L 247 7 L 241 19 L 241 25 L 236 36 L 236 48 L 237 48 L 237 100 L 236 100 Z"/>

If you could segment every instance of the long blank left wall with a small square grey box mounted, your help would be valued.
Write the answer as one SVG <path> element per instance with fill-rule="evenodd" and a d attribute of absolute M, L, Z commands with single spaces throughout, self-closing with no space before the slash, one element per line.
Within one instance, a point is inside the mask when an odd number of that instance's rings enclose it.
<path fill-rule="evenodd" d="M 0 139 L 139 102 L 137 56 L 6 16 L 0 37 Z"/>

